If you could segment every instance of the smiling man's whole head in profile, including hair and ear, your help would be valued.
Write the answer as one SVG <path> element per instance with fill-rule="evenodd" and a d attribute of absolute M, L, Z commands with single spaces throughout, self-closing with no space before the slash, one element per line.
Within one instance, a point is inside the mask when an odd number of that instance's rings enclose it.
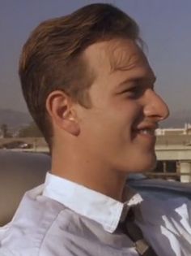
<path fill-rule="evenodd" d="M 93 4 L 40 24 L 24 46 L 24 97 L 59 159 L 65 144 L 66 168 L 67 160 L 73 170 L 154 167 L 155 128 L 168 108 L 138 42 L 134 20 Z"/>

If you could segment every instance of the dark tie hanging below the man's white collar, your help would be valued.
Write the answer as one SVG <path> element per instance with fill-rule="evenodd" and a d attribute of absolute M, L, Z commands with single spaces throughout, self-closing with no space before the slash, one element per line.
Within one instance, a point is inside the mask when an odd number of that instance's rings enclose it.
<path fill-rule="evenodd" d="M 135 249 L 141 256 L 157 256 L 151 245 L 144 239 L 141 228 L 134 223 L 134 210 L 129 209 L 125 221 L 119 224 L 119 228 L 134 242 Z"/>

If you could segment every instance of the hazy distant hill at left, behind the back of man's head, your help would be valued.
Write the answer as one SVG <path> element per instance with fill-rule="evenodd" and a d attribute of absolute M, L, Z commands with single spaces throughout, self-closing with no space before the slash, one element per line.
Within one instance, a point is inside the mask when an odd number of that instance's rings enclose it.
<path fill-rule="evenodd" d="M 19 128 L 29 124 L 31 121 L 32 117 L 28 113 L 0 109 L 0 125 L 7 124 L 10 128 Z"/>

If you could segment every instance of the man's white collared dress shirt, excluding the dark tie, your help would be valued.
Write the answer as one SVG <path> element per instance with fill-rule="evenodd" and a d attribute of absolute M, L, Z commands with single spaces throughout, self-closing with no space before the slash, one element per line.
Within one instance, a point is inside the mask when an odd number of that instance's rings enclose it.
<path fill-rule="evenodd" d="M 133 193 L 121 203 L 48 173 L 0 228 L 0 256 L 138 256 L 117 228 L 132 205 L 159 256 L 191 255 L 191 202 L 185 197 L 162 201 Z"/>

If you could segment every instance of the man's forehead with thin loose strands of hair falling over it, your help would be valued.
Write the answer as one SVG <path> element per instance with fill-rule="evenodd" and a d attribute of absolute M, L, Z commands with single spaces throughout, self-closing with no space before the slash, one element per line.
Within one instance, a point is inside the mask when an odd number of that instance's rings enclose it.
<path fill-rule="evenodd" d="M 94 67 L 108 66 L 110 72 L 149 66 L 145 54 L 136 42 L 129 39 L 101 41 L 88 47 L 87 58 Z"/>

